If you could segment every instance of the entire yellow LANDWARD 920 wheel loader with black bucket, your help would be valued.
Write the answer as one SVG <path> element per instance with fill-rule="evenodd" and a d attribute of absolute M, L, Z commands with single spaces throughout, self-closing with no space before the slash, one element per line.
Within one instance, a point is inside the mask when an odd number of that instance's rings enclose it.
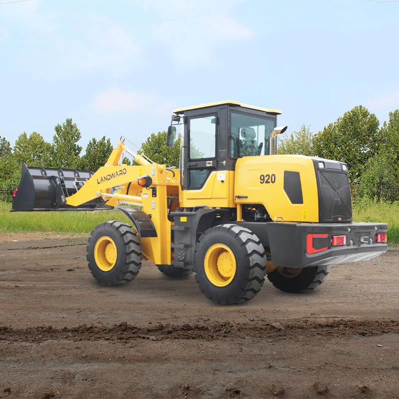
<path fill-rule="evenodd" d="M 12 210 L 117 206 L 131 224 L 101 223 L 87 246 L 103 285 L 133 280 L 144 256 L 167 276 L 194 271 L 218 304 L 252 299 L 266 273 L 282 291 L 314 290 L 330 265 L 386 252 L 388 225 L 352 222 L 345 163 L 276 154 L 280 113 L 236 101 L 176 109 L 167 145 L 181 135 L 178 168 L 121 139 L 96 172 L 22 165 Z M 123 152 L 138 166 L 118 165 Z"/>

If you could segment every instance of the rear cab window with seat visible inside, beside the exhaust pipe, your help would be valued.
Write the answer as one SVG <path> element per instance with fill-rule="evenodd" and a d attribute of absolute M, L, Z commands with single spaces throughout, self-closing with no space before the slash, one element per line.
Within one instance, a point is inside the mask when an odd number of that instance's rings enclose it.
<path fill-rule="evenodd" d="M 268 155 L 269 135 L 275 127 L 275 118 L 231 112 L 230 157 Z"/>

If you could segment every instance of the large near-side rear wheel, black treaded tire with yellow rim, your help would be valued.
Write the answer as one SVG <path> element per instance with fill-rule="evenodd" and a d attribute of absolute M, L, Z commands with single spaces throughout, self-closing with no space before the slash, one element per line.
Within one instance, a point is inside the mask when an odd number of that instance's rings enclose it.
<path fill-rule="evenodd" d="M 263 245 L 247 228 L 212 227 L 197 243 L 194 272 L 200 291 L 211 301 L 222 305 L 249 301 L 264 283 Z"/>

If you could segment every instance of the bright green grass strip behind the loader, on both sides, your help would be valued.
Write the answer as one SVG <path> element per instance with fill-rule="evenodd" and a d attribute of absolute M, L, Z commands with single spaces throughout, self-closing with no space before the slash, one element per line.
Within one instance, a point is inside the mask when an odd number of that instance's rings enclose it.
<path fill-rule="evenodd" d="M 129 222 L 119 210 L 79 212 L 9 212 L 10 204 L 0 202 L 0 233 L 54 231 L 90 233 L 108 220 Z M 354 221 L 385 222 L 389 225 L 388 242 L 399 243 L 399 202 L 381 203 L 362 200 L 353 206 Z"/>

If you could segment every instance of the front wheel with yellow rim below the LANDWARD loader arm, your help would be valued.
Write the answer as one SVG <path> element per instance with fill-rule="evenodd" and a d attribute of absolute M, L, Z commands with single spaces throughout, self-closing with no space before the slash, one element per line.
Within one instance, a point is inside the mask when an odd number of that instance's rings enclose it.
<path fill-rule="evenodd" d="M 121 285 L 133 280 L 143 260 L 140 236 L 129 224 L 111 220 L 91 232 L 88 266 L 101 285 Z"/>

